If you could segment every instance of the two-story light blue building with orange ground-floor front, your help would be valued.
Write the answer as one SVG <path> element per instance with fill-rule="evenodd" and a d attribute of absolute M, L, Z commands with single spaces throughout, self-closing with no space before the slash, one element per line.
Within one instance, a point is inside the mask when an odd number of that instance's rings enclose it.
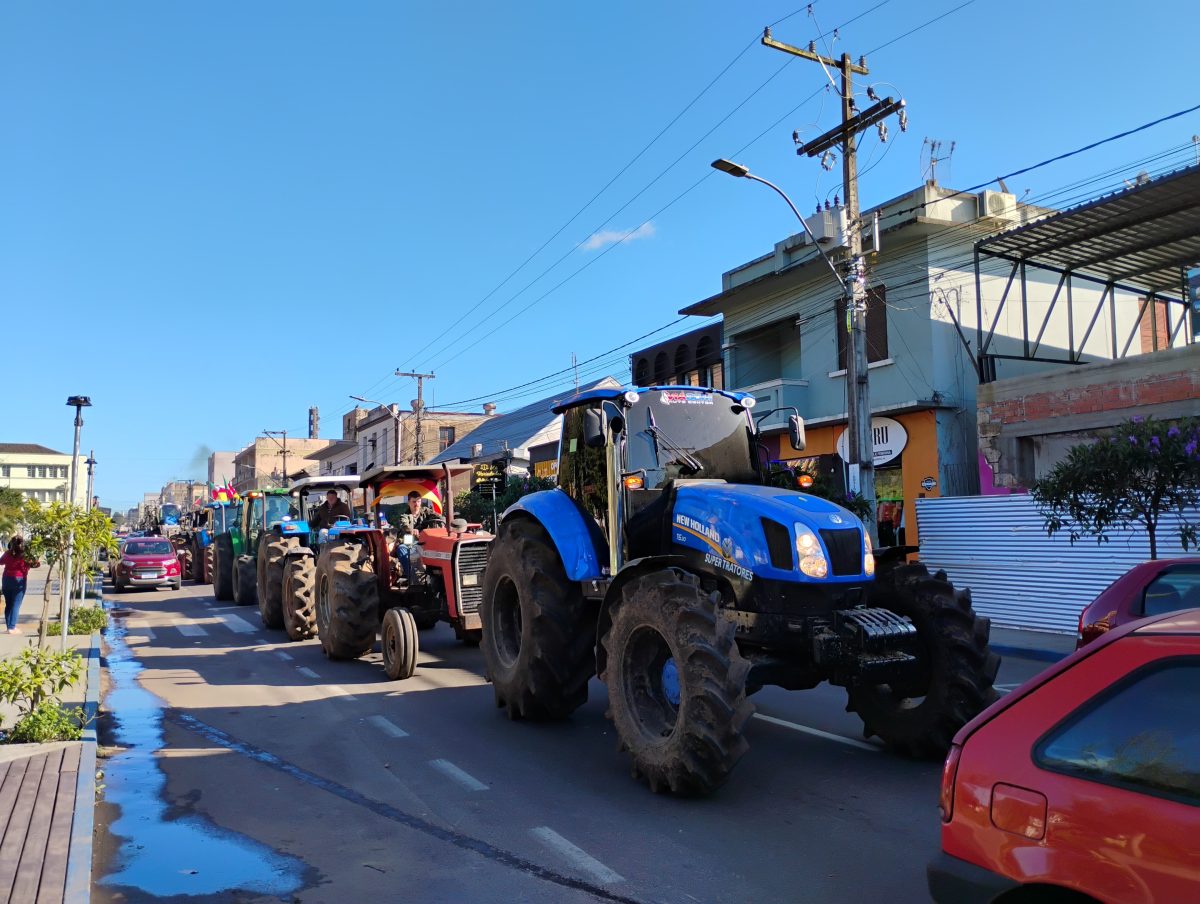
<path fill-rule="evenodd" d="M 1136 333 L 1147 316 L 1130 297 L 1106 305 L 1098 318 L 1093 311 L 1106 289 L 1080 283 L 1063 298 L 1061 282 L 1040 273 L 1026 279 L 1022 271 L 1022 304 L 1012 304 L 1010 262 L 989 258 L 977 268 L 979 239 L 1049 212 L 1003 192 L 935 184 L 863 212 L 877 516 L 890 528 L 907 526 L 907 541 L 917 539 L 910 517 L 917 498 L 979 491 L 980 359 L 995 379 L 1061 367 L 1039 360 L 1055 349 L 1074 349 L 1080 363 L 1114 358 L 1116 336 Z M 845 258 L 844 209 L 818 210 L 806 222 L 835 263 Z M 842 287 L 814 240 L 802 233 L 778 243 L 724 274 L 720 293 L 680 313 L 722 316 L 725 385 L 752 393 L 758 412 L 784 409 L 762 420 L 770 455 L 844 479 L 847 318 Z M 983 357 L 980 335 L 988 337 Z M 1144 351 L 1158 346 L 1151 339 Z M 635 382 L 641 355 L 634 355 Z M 673 365 L 670 353 L 661 360 Z M 808 425 L 803 453 L 792 451 L 784 436 L 787 408 Z"/>

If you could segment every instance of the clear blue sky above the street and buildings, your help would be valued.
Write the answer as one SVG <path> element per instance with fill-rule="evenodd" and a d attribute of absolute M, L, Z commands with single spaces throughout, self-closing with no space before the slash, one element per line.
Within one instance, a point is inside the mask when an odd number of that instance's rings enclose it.
<path fill-rule="evenodd" d="M 301 433 L 310 405 L 324 436 L 349 394 L 407 405 L 397 367 L 436 370 L 438 406 L 532 401 L 499 390 L 671 323 L 794 232 L 714 157 L 740 150 L 805 211 L 836 190 L 791 140 L 834 124 L 824 74 L 755 43 L 779 19 L 806 44 L 865 12 L 835 54 L 900 38 L 863 86 L 890 83 L 911 127 L 864 143 L 864 206 L 919 184 L 925 137 L 956 142 L 938 175 L 961 187 L 1195 103 L 1184 0 L 1136 22 L 974 0 L 901 37 L 960 2 L 5 4 L 0 439 L 70 450 L 65 399 L 90 395 L 97 492 L 127 508 L 209 449 Z M 1126 168 L 1111 188 L 1188 162 L 1194 133 L 1198 114 L 1009 187 Z M 628 377 L 616 354 L 598 371 Z"/>

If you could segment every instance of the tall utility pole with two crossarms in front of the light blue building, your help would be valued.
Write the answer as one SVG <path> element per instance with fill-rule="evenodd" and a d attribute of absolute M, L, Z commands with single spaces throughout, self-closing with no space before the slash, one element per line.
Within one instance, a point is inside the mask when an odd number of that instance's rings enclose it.
<path fill-rule="evenodd" d="M 818 62 L 823 67 L 838 70 L 841 73 L 841 125 L 798 146 L 796 152 L 814 157 L 835 146 L 841 150 L 842 191 L 846 198 L 846 250 L 848 257 L 844 276 L 844 293 L 846 300 L 846 329 L 850 340 L 846 343 L 846 381 L 848 382 L 848 391 L 846 393 L 846 429 L 848 433 L 846 438 L 848 442 L 846 448 L 850 460 L 850 489 L 862 493 L 863 498 L 870 505 L 871 516 L 866 521 L 866 529 L 877 545 L 878 521 L 875 511 L 875 443 L 871 431 L 871 403 L 866 359 L 866 268 L 863 259 L 863 231 L 858 210 L 858 154 L 856 137 L 859 132 L 882 122 L 883 119 L 893 113 L 901 114 L 900 127 L 901 130 L 906 128 L 907 121 L 902 113 L 905 102 L 886 97 L 859 113 L 854 104 L 854 74 L 868 74 L 869 70 L 866 68 L 865 56 L 860 56 L 858 62 L 853 62 L 850 59 L 850 54 L 844 53 L 840 60 L 833 60 L 820 55 L 816 52 L 816 46 L 812 43 L 805 50 L 775 41 L 770 36 L 770 29 L 763 30 L 762 43 L 766 47 L 773 47 L 793 56 Z M 881 137 L 883 134 L 886 132 L 883 132 L 883 127 L 881 126 Z M 878 249 L 875 249 L 875 251 L 877 252 Z"/>

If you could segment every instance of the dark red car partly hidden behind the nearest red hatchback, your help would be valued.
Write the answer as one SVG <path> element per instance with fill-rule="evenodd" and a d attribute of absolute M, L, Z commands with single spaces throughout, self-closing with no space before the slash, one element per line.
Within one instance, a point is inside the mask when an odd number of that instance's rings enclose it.
<path fill-rule="evenodd" d="M 1076 647 L 1138 618 L 1200 606 L 1200 558 L 1158 558 L 1134 565 L 1079 616 Z"/>

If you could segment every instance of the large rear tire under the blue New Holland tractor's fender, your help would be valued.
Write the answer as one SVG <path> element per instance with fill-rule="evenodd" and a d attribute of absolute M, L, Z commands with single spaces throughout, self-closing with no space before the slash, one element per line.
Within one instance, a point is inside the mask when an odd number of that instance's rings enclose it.
<path fill-rule="evenodd" d="M 595 611 L 541 525 L 500 525 L 479 613 L 487 677 L 510 719 L 563 719 L 587 701 Z"/>

